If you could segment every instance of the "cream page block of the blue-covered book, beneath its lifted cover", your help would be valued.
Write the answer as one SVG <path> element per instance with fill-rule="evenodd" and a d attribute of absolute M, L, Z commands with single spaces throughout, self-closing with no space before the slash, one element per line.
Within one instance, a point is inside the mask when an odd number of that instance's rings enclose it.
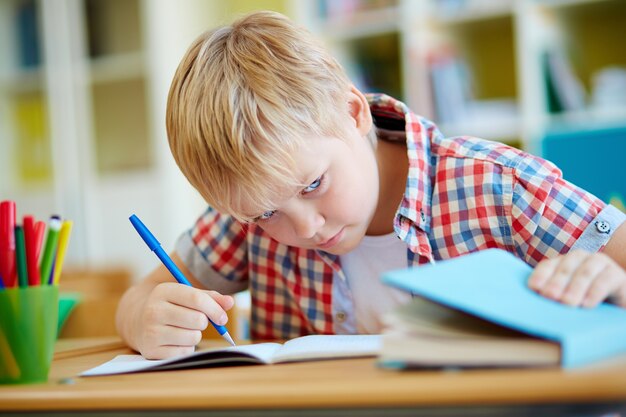
<path fill-rule="evenodd" d="M 550 366 L 560 358 L 557 343 L 419 298 L 384 322 L 379 361 L 385 367 Z"/>

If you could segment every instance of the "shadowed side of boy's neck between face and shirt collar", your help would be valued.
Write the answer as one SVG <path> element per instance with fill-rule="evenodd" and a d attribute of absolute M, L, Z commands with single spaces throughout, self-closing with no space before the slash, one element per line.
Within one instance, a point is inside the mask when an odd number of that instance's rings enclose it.
<path fill-rule="evenodd" d="M 393 232 L 393 219 L 404 196 L 409 161 L 404 143 L 379 140 L 376 146 L 379 191 L 378 204 L 366 235 L 380 236 Z"/>

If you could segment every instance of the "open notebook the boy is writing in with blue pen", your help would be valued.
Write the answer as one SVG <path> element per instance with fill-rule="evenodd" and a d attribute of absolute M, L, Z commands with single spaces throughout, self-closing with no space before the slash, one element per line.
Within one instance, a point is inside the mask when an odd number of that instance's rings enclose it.
<path fill-rule="evenodd" d="M 297 337 L 285 343 L 254 343 L 205 349 L 189 355 L 162 360 L 148 360 L 141 355 L 118 355 L 80 375 L 115 375 L 243 364 L 270 365 L 376 356 L 379 351 L 380 335 L 309 335 Z"/>

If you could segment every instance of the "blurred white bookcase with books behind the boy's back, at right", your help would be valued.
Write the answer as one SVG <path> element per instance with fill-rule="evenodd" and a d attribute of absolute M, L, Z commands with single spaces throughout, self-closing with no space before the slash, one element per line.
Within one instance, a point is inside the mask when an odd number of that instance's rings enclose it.
<path fill-rule="evenodd" d="M 624 122 L 624 1 L 293 4 L 300 23 L 325 41 L 357 86 L 404 100 L 447 136 L 537 150 L 536 142 L 555 124 Z M 552 76 L 547 60 L 560 67 Z M 550 77 L 562 84 L 557 90 L 565 97 L 549 97 Z M 558 100 L 570 104 L 554 106 Z"/>

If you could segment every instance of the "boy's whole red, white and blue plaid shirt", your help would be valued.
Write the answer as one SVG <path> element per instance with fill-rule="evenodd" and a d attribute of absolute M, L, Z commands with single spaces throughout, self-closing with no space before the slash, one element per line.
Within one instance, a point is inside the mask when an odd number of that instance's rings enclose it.
<path fill-rule="evenodd" d="M 534 266 L 575 247 L 597 251 L 624 221 L 550 162 L 501 143 L 446 139 L 403 103 L 384 95 L 368 99 L 375 120 L 404 125 L 409 173 L 394 230 L 406 243 L 408 265 L 501 248 Z M 607 232 L 598 222 L 612 227 Z M 333 282 L 345 282 L 345 275 L 336 255 L 283 245 L 212 208 L 181 237 L 177 251 L 207 288 L 250 289 L 254 339 L 337 329 Z"/>

